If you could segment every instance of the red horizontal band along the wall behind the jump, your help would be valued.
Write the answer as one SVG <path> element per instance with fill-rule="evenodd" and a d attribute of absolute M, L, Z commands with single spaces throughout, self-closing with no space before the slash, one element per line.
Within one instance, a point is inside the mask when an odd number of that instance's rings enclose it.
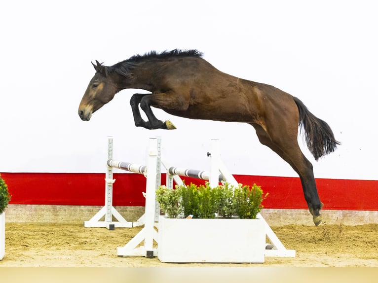
<path fill-rule="evenodd" d="M 1 173 L 12 195 L 10 204 L 97 205 L 105 202 L 105 174 Z M 144 206 L 146 178 L 139 174 L 114 174 L 114 206 Z M 265 208 L 306 209 L 297 177 L 235 175 L 246 185 L 256 183 L 269 193 Z M 186 183 L 203 181 L 185 177 Z M 162 176 L 162 183 L 165 175 Z M 378 211 L 377 180 L 316 179 L 324 209 Z"/>

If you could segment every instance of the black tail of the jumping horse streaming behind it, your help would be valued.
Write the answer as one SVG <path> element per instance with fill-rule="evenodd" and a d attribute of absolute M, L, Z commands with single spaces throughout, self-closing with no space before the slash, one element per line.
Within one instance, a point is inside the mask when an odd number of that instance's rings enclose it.
<path fill-rule="evenodd" d="M 334 152 L 340 142 L 335 140 L 330 126 L 312 114 L 298 98 L 294 97 L 294 101 L 298 106 L 299 124 L 301 130 L 304 129 L 307 147 L 315 160 Z"/>

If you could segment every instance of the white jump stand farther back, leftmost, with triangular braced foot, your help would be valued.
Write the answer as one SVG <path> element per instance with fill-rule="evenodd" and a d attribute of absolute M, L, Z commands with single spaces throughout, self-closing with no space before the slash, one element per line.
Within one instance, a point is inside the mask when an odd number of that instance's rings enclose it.
<path fill-rule="evenodd" d="M 113 137 L 108 137 L 108 160 L 113 158 Z M 143 225 L 141 219 L 137 222 L 127 221 L 113 207 L 113 168 L 108 166 L 105 178 L 105 206 L 97 212 L 90 220 L 84 221 L 84 227 L 105 227 L 114 230 L 115 227 L 130 228 Z M 105 216 L 104 221 L 100 221 Z M 117 221 L 113 221 L 113 217 Z"/>

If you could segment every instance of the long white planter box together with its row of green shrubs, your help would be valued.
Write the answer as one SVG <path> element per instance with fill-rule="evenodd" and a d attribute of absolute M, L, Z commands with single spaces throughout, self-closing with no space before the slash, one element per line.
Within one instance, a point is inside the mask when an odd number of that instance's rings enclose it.
<path fill-rule="evenodd" d="M 266 195 L 259 186 L 160 186 L 156 195 L 167 214 L 159 217 L 160 261 L 264 262 L 265 223 L 256 216 Z"/>

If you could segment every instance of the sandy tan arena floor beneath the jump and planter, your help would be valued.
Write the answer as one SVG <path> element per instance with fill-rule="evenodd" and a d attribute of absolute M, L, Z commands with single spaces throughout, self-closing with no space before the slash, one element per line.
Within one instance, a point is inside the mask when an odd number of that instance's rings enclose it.
<path fill-rule="evenodd" d="M 157 257 L 118 257 L 140 227 L 84 228 L 82 224 L 6 223 L 0 267 L 378 267 L 378 224 L 273 226 L 296 257 L 259 264 L 162 263 Z"/>

